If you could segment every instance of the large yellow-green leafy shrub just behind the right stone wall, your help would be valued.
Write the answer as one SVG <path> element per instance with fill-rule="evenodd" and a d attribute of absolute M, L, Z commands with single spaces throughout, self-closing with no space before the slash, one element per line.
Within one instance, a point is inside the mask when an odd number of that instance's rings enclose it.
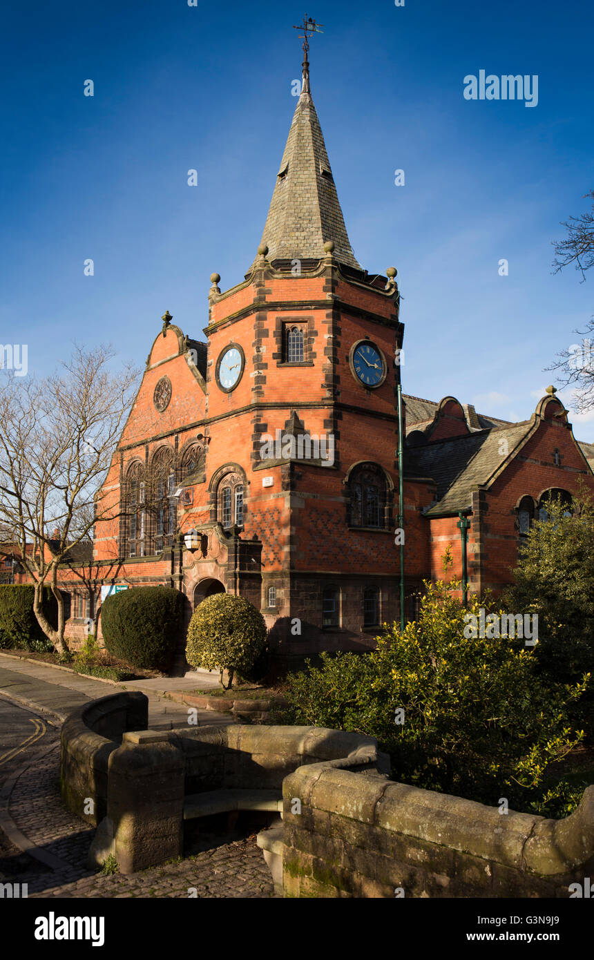
<path fill-rule="evenodd" d="M 290 719 L 375 736 L 398 780 L 490 805 L 506 797 L 512 808 L 566 812 L 581 791 L 552 780 L 552 764 L 582 740 L 565 718 L 589 676 L 554 683 L 523 641 L 464 636 L 464 614 L 478 616 L 485 602 L 471 597 L 464 611 L 459 588 L 426 584 L 404 633 L 386 626 L 372 653 L 322 654 L 320 668 L 290 677 Z"/>

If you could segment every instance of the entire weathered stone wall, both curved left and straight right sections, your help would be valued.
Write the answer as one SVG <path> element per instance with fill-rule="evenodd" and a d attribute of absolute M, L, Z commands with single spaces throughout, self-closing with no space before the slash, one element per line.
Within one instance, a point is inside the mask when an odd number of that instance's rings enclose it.
<path fill-rule="evenodd" d="M 182 853 L 189 794 L 282 787 L 283 824 L 258 843 L 271 862 L 282 855 L 286 897 L 567 897 L 594 876 L 594 786 L 564 820 L 502 815 L 388 780 L 389 758 L 368 736 L 146 726 L 146 697 L 121 693 L 62 729 L 64 803 L 83 816 L 94 800 L 85 819 L 102 825 L 95 846 L 115 852 L 123 873 Z"/>

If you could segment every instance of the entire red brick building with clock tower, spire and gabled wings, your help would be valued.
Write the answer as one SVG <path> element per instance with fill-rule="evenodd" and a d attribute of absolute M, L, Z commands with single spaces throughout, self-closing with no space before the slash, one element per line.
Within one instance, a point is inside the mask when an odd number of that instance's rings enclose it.
<path fill-rule="evenodd" d="M 398 619 L 404 327 L 387 275 L 369 275 L 352 252 L 305 65 L 245 280 L 225 290 L 211 277 L 205 343 L 166 314 L 150 347 L 104 487 L 123 515 L 96 528 L 105 584 L 178 588 L 188 613 L 212 592 L 239 593 L 287 656 L 366 647 Z M 404 403 L 414 615 L 448 545 L 462 574 L 460 515 L 470 587 L 501 588 L 548 492 L 570 497 L 581 478 L 594 487 L 594 451 L 553 395 L 521 423 L 452 396 Z"/>

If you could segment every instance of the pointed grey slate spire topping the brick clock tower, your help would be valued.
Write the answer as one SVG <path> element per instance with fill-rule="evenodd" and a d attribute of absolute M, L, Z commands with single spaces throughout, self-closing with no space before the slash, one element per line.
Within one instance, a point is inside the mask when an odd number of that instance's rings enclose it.
<path fill-rule="evenodd" d="M 262 245 L 274 261 L 321 259 L 334 241 L 334 258 L 361 270 L 346 233 L 330 161 L 312 100 L 307 52 L 303 84 L 268 212 Z M 254 261 L 255 263 L 255 261 Z"/>

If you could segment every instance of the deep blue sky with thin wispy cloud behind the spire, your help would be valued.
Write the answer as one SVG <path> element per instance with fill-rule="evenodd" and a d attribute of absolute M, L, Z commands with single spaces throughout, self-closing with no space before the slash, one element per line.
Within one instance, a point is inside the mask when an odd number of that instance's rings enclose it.
<path fill-rule="evenodd" d="M 0 341 L 28 344 L 30 372 L 50 372 L 74 340 L 142 366 L 167 309 L 204 339 L 210 274 L 237 283 L 260 242 L 303 12 L 237 0 L 5 8 Z M 543 369 L 594 313 L 594 277 L 551 272 L 559 222 L 594 186 L 594 9 L 318 0 L 307 14 L 324 25 L 312 92 L 351 244 L 369 273 L 398 270 L 405 391 L 527 419 L 555 381 Z M 481 69 L 537 75 L 537 106 L 464 100 L 464 76 Z M 594 440 L 594 413 L 571 419 Z"/>

